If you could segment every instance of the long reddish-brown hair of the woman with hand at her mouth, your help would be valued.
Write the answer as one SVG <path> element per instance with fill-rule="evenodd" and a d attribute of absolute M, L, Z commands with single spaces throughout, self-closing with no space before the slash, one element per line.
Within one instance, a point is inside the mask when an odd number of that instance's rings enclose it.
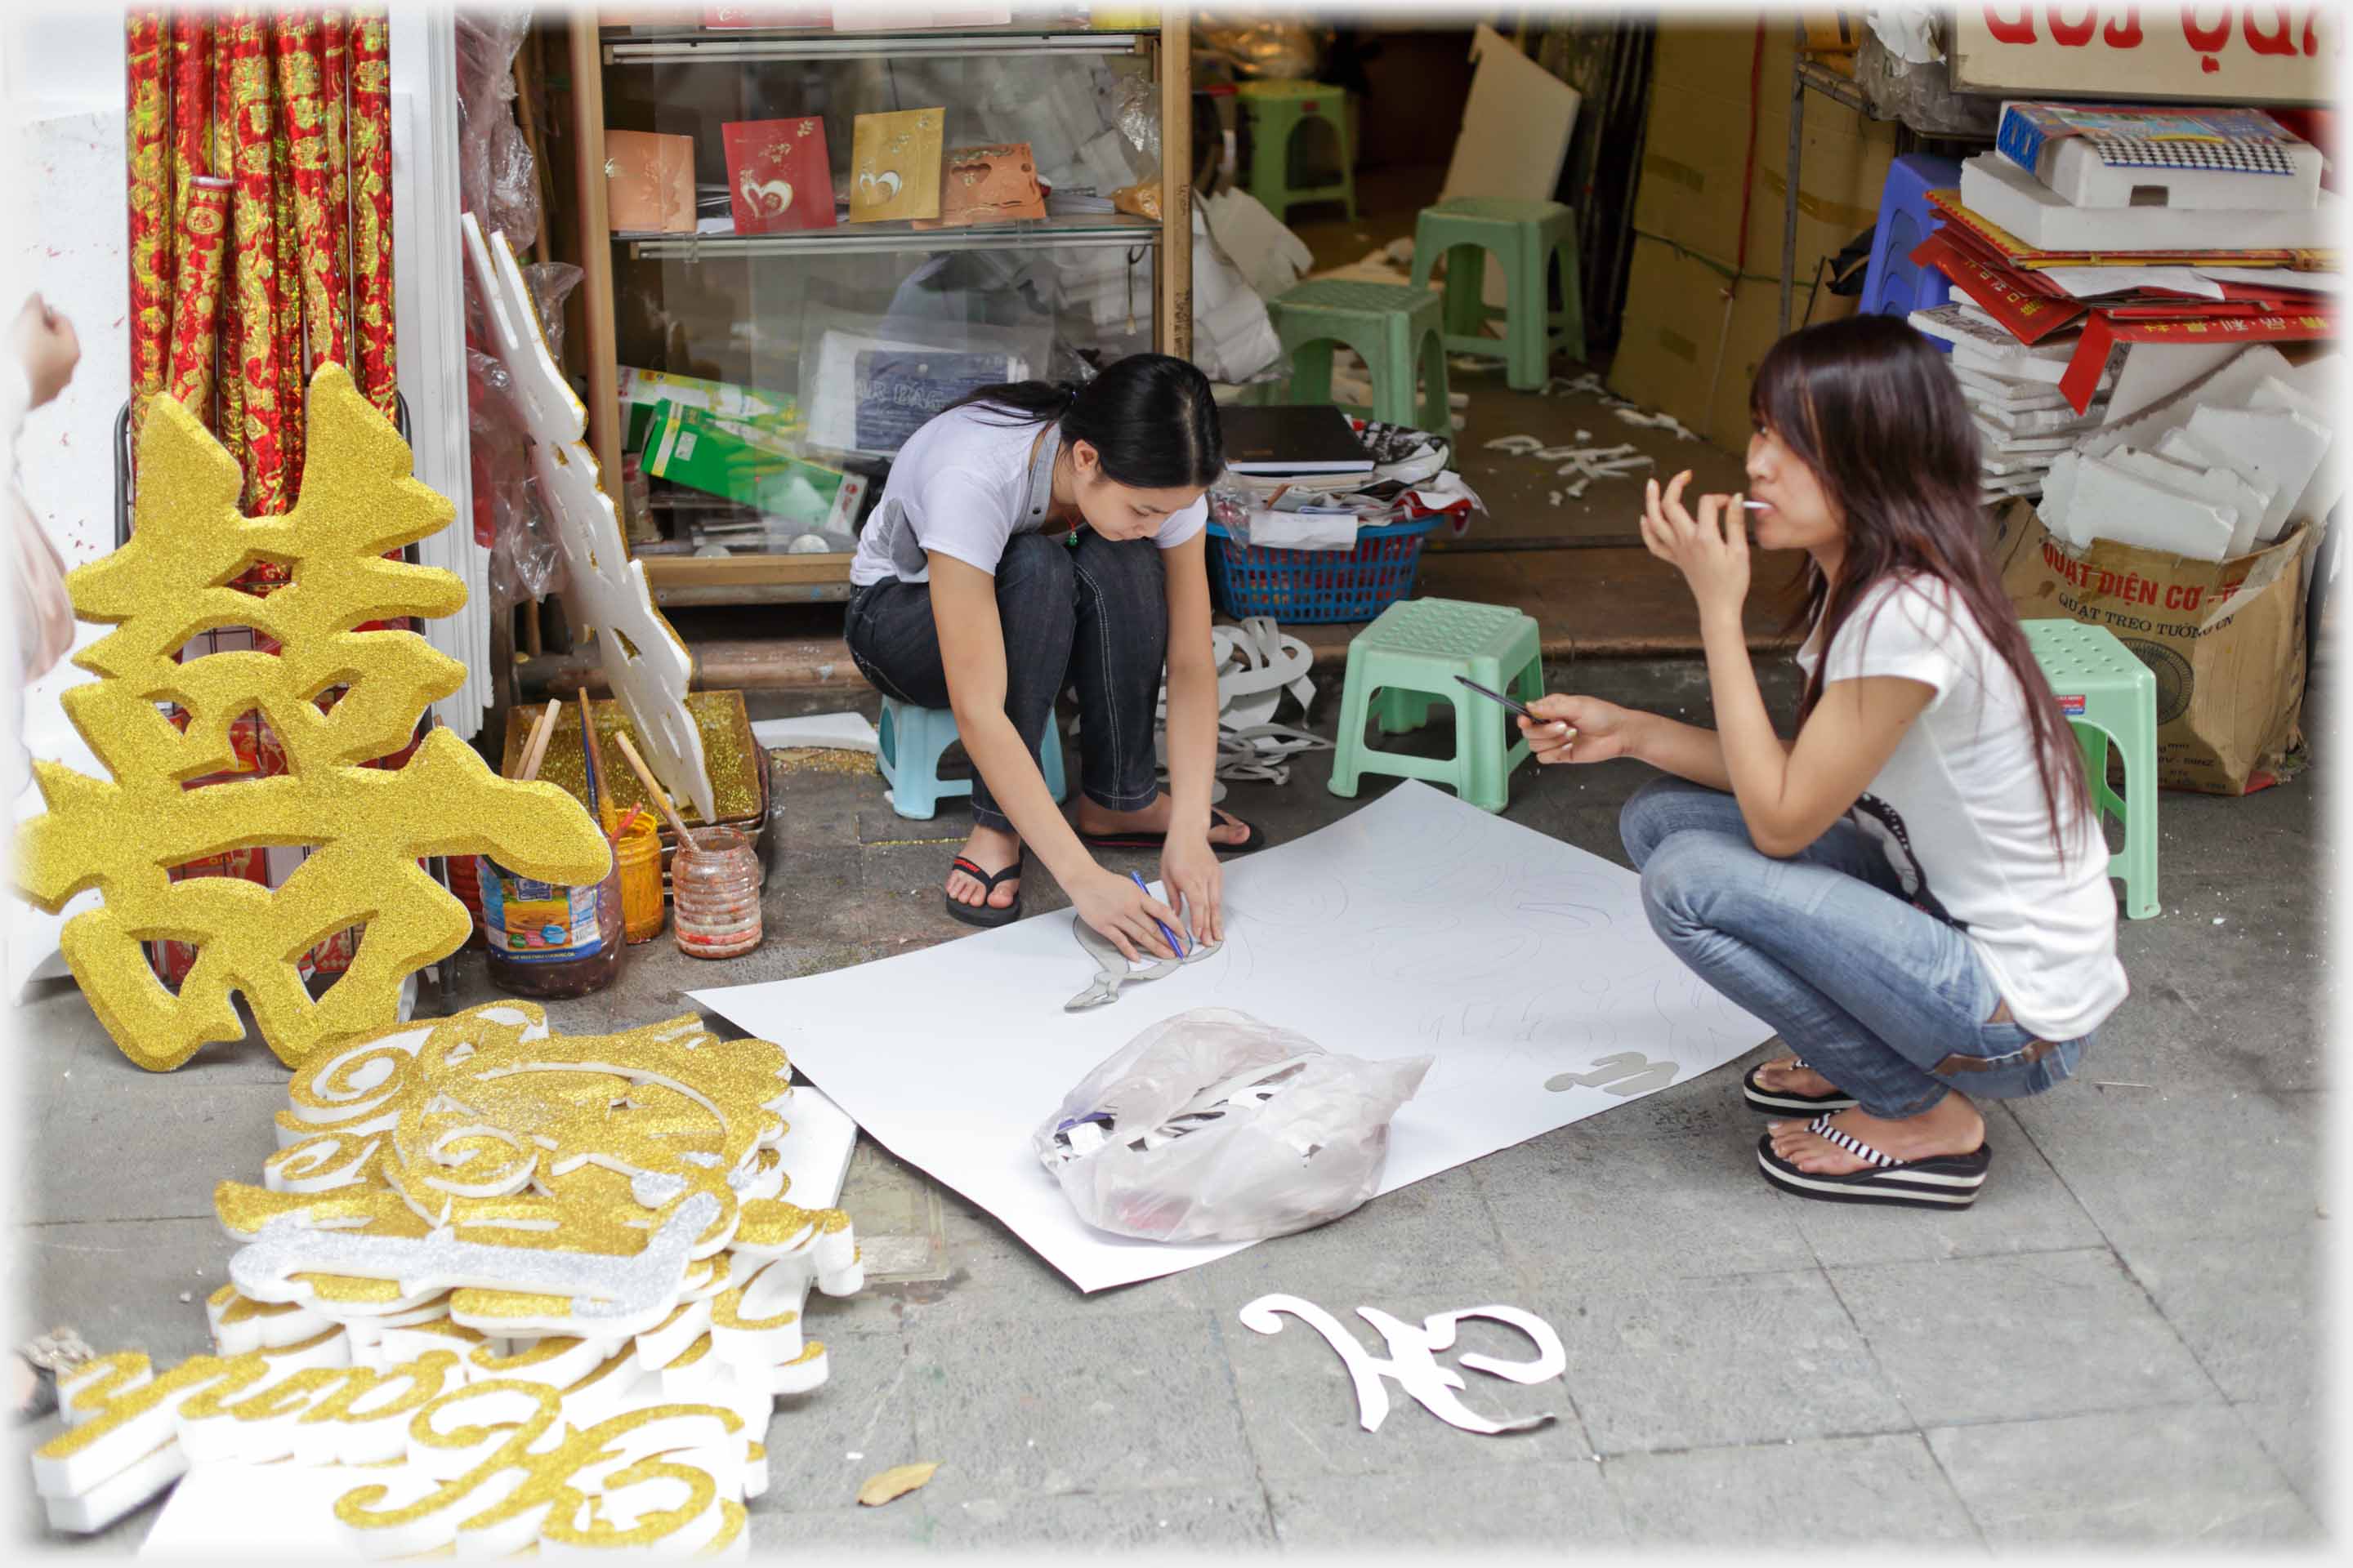
<path fill-rule="evenodd" d="M 1791 616 L 1791 630 L 1821 625 L 1824 651 L 1805 682 L 1800 722 L 1821 701 L 1831 639 L 1871 588 L 1889 576 L 1937 578 L 1977 616 L 2026 693 L 2052 849 L 2064 860 L 2061 804 L 2089 809 L 2082 759 L 1986 555 L 1977 425 L 1944 355 L 1892 315 L 1807 327 L 1765 353 L 1748 414 L 1814 470 L 1847 524 L 1838 581 L 1807 564 L 1805 597 Z"/>

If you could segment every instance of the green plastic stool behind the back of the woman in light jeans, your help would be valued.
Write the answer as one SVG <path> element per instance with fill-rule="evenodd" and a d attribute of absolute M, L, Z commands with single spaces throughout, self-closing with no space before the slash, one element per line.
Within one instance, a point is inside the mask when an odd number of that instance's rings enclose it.
<path fill-rule="evenodd" d="M 2125 914 L 2158 912 L 2158 677 L 2104 625 L 2026 621 L 2059 710 L 2075 726 L 2082 766 L 2099 816 L 2125 823 L 2125 853 L 2108 856 L 2108 875 L 2125 884 Z M 2108 743 L 2125 755 L 2125 795 L 2108 788 Z"/>

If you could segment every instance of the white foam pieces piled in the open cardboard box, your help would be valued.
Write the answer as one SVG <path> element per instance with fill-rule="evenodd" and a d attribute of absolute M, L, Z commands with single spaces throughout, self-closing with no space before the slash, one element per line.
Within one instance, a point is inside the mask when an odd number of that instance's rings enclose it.
<path fill-rule="evenodd" d="M 2113 538 L 2193 559 L 2233 559 L 2344 489 L 2334 458 L 2334 355 L 2289 369 L 2254 348 L 2153 411 L 2052 463 L 2038 515 L 2078 545 Z"/>

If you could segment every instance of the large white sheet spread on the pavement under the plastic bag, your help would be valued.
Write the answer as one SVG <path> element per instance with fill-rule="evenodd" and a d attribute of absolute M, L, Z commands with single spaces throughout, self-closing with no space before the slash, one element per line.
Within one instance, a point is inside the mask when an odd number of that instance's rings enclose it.
<path fill-rule="evenodd" d="M 1111 1006 L 1061 1011 L 1094 973 L 1071 924 L 1059 910 L 856 969 L 692 997 L 779 1041 L 795 1077 L 998 1215 L 1080 1291 L 1242 1246 L 1094 1232 L 1031 1152 L 1031 1131 L 1087 1070 L 1174 1013 L 1240 1009 L 1365 1058 L 1435 1053 L 1391 1128 L 1384 1192 L 1633 1098 L 1609 1093 L 1612 1072 L 1548 1091 L 1558 1074 L 1642 1053 L 1685 1081 L 1772 1032 L 1652 936 L 1633 872 L 1421 783 L 1231 860 L 1224 950 Z"/>

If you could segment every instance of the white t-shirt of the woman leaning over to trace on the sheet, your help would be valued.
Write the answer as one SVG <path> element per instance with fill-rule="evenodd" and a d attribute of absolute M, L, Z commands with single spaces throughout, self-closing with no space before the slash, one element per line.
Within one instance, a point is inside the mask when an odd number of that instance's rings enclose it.
<path fill-rule="evenodd" d="M 896 576 L 929 583 L 929 550 L 995 574 L 1016 531 L 1038 529 L 1054 505 L 1054 454 L 1061 430 L 1016 423 L 1009 409 L 967 404 L 932 418 L 892 458 L 849 583 L 868 588 Z M 1035 456 L 1031 442 L 1038 444 Z M 1167 515 L 1153 536 L 1162 550 L 1186 543 L 1209 522 L 1207 496 Z"/>

